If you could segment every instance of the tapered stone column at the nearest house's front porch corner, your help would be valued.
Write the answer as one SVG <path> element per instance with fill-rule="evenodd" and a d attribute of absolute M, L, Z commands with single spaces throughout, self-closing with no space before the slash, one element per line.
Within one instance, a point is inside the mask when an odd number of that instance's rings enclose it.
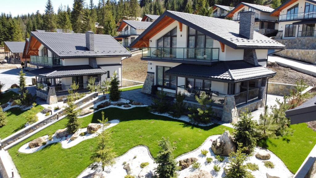
<path fill-rule="evenodd" d="M 237 122 L 237 118 L 238 113 L 234 95 L 226 95 L 222 112 L 222 121 L 235 123 Z"/>

